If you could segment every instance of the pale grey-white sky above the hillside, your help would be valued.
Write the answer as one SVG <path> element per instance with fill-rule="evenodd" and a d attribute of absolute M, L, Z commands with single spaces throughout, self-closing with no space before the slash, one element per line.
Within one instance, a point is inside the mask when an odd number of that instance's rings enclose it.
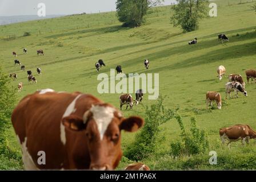
<path fill-rule="evenodd" d="M 116 0 L 0 0 L 0 16 L 37 15 L 38 3 L 45 3 L 46 16 L 115 11 Z M 165 0 L 170 5 L 175 0 Z"/>

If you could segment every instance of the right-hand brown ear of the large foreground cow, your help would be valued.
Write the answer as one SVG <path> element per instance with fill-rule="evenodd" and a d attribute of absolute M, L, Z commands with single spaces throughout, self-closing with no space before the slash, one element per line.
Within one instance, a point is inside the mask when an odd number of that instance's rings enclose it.
<path fill-rule="evenodd" d="M 123 119 L 120 125 L 121 130 L 135 132 L 144 125 L 144 120 L 141 117 L 130 117 Z"/>

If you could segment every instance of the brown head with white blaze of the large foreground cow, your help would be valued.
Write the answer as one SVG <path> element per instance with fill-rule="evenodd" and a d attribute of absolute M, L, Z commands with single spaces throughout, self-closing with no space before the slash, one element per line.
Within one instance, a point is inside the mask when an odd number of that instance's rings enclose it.
<path fill-rule="evenodd" d="M 121 131 L 134 132 L 142 127 L 140 117 L 123 118 L 113 106 L 92 106 L 83 118 L 70 115 L 62 120 L 67 129 L 82 131 L 90 154 L 90 169 L 115 169 L 122 158 Z"/>

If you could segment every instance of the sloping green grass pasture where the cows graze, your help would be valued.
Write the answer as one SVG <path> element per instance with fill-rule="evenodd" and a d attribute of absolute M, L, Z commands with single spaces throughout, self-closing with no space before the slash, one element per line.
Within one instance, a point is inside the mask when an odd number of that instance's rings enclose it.
<path fill-rule="evenodd" d="M 88 15 L 73 15 L 0 26 L 0 65 L 6 73 L 17 73 L 17 86 L 23 82 L 23 91 L 18 98 L 37 89 L 52 88 L 58 91 L 80 91 L 91 93 L 105 102 L 119 107 L 119 94 L 98 94 L 96 69 L 97 60 L 105 60 L 106 67 L 100 72 L 110 74 L 110 68 L 122 65 L 125 73 L 159 73 L 159 92 L 170 109 L 180 107 L 185 126 L 190 126 L 190 116 L 197 117 L 200 129 L 209 135 L 210 151 L 217 151 L 219 163 L 211 166 L 207 154 L 170 157 L 170 142 L 179 140 L 180 130 L 175 120 L 161 126 L 159 150 L 150 159 L 143 161 L 151 169 L 247 169 L 256 168 L 256 141 L 242 147 L 241 142 L 231 144 L 231 150 L 222 146 L 219 129 L 238 123 L 246 123 L 256 129 L 256 84 L 246 84 L 248 97 L 225 100 L 227 76 L 219 81 L 216 69 L 224 65 L 226 75 L 240 73 L 244 80 L 245 69 L 256 68 L 256 14 L 250 9 L 253 3 L 240 1 L 217 1 L 218 17 L 201 20 L 199 30 L 183 34 L 170 24 L 170 6 L 150 10 L 146 23 L 139 28 L 122 28 L 114 12 Z M 41 34 L 39 34 L 39 30 Z M 31 36 L 23 37 L 24 32 Z M 219 44 L 218 33 L 225 33 L 229 43 Z M 16 35 L 13 40 L 5 40 Z M 198 38 L 198 44 L 187 45 Z M 23 47 L 28 54 L 23 55 Z M 37 49 L 43 49 L 45 56 L 37 56 Z M 26 72 L 14 66 L 13 51 L 26 70 L 34 75 L 36 68 L 42 69 L 37 76 L 38 83 L 27 84 Z M 143 60 L 150 60 L 150 69 L 145 70 Z M 221 92 L 221 110 L 206 110 L 207 91 Z M 135 94 L 133 94 L 135 97 Z M 144 105 L 155 101 L 143 100 Z M 18 103 L 18 101 L 17 101 Z M 127 117 L 141 114 L 143 106 L 123 111 Z M 10 148 L 19 150 L 13 129 L 10 130 Z M 123 133 L 122 148 L 134 140 L 134 134 Z M 131 163 L 123 158 L 118 169 Z M 235 164 L 234 164 L 235 163 Z M 237 165 L 237 166 L 236 166 Z M 0 169 L 22 169 L 20 164 L 0 156 Z"/>

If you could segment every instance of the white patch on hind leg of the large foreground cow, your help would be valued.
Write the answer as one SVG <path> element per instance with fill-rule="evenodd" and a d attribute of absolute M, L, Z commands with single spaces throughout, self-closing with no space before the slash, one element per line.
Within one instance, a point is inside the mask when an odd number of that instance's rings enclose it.
<path fill-rule="evenodd" d="M 25 141 L 21 143 L 21 140 L 19 140 L 19 136 L 17 135 L 18 141 L 21 144 L 21 151 L 22 151 L 22 160 L 23 164 L 26 170 L 29 171 L 35 171 L 39 170 L 37 166 L 35 166 L 35 163 L 29 154 L 29 151 L 27 151 L 27 137 L 25 138 Z"/>

